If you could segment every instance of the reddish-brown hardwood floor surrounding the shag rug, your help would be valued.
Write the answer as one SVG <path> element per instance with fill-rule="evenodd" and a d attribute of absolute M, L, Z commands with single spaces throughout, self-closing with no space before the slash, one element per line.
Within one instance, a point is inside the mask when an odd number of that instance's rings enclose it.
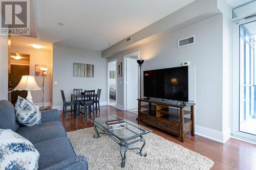
<path fill-rule="evenodd" d="M 122 111 L 116 109 L 112 106 L 101 106 L 100 115 L 105 116 L 117 114 L 120 117 L 131 120 L 137 123 L 137 115 L 131 112 Z M 75 118 L 73 114 L 67 114 L 66 118 L 62 118 L 62 113 L 60 113 L 61 122 L 63 123 L 66 131 L 74 131 L 83 128 L 93 127 L 93 124 L 87 120 L 83 120 L 83 117 Z M 237 139 L 230 138 L 225 144 L 210 140 L 198 135 L 195 137 L 186 135 L 185 142 L 182 143 L 178 140 L 176 136 L 164 132 L 162 130 L 156 129 L 145 124 L 142 126 L 153 130 L 153 133 L 162 136 L 163 138 L 182 145 L 191 151 L 197 152 L 204 155 L 214 161 L 214 166 L 211 169 L 256 169 L 256 145 L 240 141 Z"/>

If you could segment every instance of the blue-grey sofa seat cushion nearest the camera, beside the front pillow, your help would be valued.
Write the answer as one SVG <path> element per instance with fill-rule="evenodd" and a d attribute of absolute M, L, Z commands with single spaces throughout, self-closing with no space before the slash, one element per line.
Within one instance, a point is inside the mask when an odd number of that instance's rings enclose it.
<path fill-rule="evenodd" d="M 40 153 L 39 169 L 52 166 L 65 159 L 75 156 L 75 152 L 67 137 L 58 137 L 34 144 Z"/>

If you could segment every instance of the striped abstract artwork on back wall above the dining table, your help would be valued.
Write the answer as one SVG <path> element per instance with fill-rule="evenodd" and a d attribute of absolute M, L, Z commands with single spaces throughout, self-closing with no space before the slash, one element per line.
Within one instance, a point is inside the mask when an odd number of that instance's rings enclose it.
<path fill-rule="evenodd" d="M 94 77 L 94 65 L 73 63 L 73 77 Z"/>

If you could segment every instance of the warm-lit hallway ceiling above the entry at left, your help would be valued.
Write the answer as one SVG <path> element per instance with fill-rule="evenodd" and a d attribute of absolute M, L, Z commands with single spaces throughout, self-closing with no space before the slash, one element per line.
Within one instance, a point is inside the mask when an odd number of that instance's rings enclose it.
<path fill-rule="evenodd" d="M 32 47 L 32 44 L 41 45 L 44 50 L 52 50 L 52 43 L 40 41 L 37 38 L 20 36 L 20 35 L 11 35 L 11 45 Z"/>

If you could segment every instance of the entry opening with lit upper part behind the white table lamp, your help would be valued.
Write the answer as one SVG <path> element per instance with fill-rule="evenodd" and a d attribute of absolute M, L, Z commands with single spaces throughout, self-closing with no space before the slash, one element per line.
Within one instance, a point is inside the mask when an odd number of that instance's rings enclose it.
<path fill-rule="evenodd" d="M 8 100 L 15 105 L 18 95 L 27 97 L 27 91 L 12 91 L 22 76 L 29 75 L 30 56 L 28 54 L 11 53 L 11 72 L 8 75 Z"/>

